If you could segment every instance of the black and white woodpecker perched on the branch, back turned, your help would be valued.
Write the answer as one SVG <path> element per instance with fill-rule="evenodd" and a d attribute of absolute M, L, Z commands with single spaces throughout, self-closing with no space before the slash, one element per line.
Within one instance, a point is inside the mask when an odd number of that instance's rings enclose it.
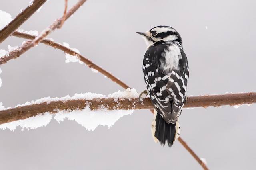
<path fill-rule="evenodd" d="M 171 147 L 180 136 L 179 117 L 187 100 L 189 68 L 182 38 L 169 26 L 136 33 L 147 44 L 142 70 L 154 107 L 152 136 L 155 142 Z"/>

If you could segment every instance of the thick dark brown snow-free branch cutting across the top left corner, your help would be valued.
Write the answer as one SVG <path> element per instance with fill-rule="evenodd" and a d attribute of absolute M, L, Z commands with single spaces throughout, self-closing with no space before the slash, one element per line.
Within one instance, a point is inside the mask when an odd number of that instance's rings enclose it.
<path fill-rule="evenodd" d="M 33 5 L 27 6 L 20 12 L 8 25 L 0 30 L 0 43 L 8 38 L 20 25 L 22 25 L 30 16 L 32 16 L 47 0 L 34 0 Z"/>

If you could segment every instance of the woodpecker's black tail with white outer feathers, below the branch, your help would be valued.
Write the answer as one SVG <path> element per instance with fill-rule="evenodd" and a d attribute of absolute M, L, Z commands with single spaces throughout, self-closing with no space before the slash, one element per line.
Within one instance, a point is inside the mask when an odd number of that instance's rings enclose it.
<path fill-rule="evenodd" d="M 159 141 L 164 146 L 167 141 L 168 146 L 171 147 L 174 141 L 180 136 L 179 119 L 175 124 L 166 123 L 164 118 L 155 111 L 152 121 L 152 135 L 155 142 Z"/>

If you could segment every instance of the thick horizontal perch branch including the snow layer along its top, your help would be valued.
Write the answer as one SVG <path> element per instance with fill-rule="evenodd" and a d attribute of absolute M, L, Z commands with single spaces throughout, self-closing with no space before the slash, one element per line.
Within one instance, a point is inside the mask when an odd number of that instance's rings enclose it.
<path fill-rule="evenodd" d="M 184 108 L 194 107 L 219 107 L 230 105 L 238 107 L 242 104 L 256 103 L 256 92 L 190 96 Z M 138 100 L 138 93 L 134 89 L 127 89 L 124 92 L 116 92 L 108 97 L 91 93 L 77 94 L 73 97 L 63 98 L 42 98 L 37 101 L 18 105 L 11 109 L 0 111 L 0 124 L 26 119 L 40 113 L 58 113 L 59 111 L 72 111 L 90 108 L 91 110 L 136 110 L 153 109 L 148 98 L 143 102 Z"/>

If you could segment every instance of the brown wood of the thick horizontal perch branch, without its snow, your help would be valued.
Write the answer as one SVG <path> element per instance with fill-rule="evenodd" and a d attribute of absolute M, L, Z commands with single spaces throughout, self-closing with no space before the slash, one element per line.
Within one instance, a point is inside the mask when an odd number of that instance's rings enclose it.
<path fill-rule="evenodd" d="M 218 104 L 216 104 L 218 101 Z M 202 105 L 202 103 L 207 105 Z M 224 106 L 224 105 L 241 105 L 256 103 L 256 92 L 250 93 L 235 93 L 235 94 L 219 94 L 219 95 L 207 95 L 207 96 L 191 96 L 188 98 L 186 106 L 184 108 L 191 107 L 205 107 L 205 106 Z M 75 110 L 83 109 L 84 107 L 90 107 L 92 110 L 102 109 L 102 107 L 108 110 L 118 109 L 153 109 L 153 106 L 149 98 L 145 98 L 143 103 L 140 103 L 138 98 L 132 99 L 114 99 L 114 98 L 95 98 L 92 100 L 79 99 L 79 100 L 59 100 L 48 101 L 40 104 L 32 104 L 27 106 L 19 106 L 12 109 L 6 109 L 0 111 L 0 124 L 16 121 L 20 119 L 26 119 L 31 116 L 35 116 L 39 113 L 51 112 L 56 113 L 62 110 Z"/>

